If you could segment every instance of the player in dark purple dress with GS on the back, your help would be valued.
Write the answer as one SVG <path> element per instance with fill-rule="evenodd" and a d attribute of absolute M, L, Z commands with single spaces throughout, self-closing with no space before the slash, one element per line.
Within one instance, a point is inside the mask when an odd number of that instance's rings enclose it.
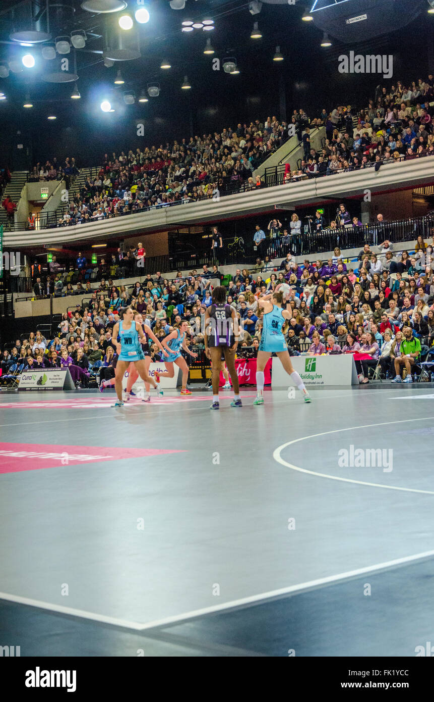
<path fill-rule="evenodd" d="M 212 364 L 212 404 L 210 409 L 220 409 L 219 379 L 222 355 L 231 376 L 233 400 L 231 407 L 242 407 L 240 384 L 235 369 L 235 352 L 238 345 L 238 319 L 236 311 L 226 304 L 226 288 L 217 286 L 212 291 L 212 305 L 205 312 L 205 354 Z"/>

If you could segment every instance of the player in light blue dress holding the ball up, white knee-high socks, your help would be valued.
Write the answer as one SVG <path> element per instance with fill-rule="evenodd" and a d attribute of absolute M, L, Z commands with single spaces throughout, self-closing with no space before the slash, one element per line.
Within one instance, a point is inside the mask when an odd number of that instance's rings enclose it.
<path fill-rule="evenodd" d="M 265 295 L 258 300 L 259 307 L 262 307 L 264 310 L 264 326 L 262 328 L 262 336 L 256 362 L 257 396 L 253 404 L 264 404 L 264 368 L 272 353 L 276 353 L 285 371 L 291 376 L 297 388 L 303 393 L 304 402 L 311 402 L 311 396 L 308 394 L 303 380 L 301 380 L 299 373 L 294 371 L 292 367 L 285 336 L 283 336 L 282 333 L 282 326 L 285 323 L 285 319 L 291 318 L 291 312 L 282 309 L 282 302 L 282 292 Z M 291 397 L 291 390 L 292 388 L 289 388 L 288 397 Z"/>

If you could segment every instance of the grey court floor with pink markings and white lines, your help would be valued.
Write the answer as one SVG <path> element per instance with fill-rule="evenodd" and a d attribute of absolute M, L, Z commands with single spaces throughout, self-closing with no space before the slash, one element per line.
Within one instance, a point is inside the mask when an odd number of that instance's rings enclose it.
<path fill-rule="evenodd" d="M 223 394 L 223 393 L 222 393 Z M 434 642 L 434 388 L 304 404 L 0 396 L 0 644 L 414 656 Z M 367 465 L 369 463 L 369 465 Z M 372 465 L 374 463 L 374 465 Z"/>

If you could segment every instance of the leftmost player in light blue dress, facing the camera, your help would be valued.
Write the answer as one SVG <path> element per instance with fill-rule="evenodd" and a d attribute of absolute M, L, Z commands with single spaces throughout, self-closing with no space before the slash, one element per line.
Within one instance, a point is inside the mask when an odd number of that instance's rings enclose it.
<path fill-rule="evenodd" d="M 140 378 L 145 383 L 150 383 L 156 390 L 157 384 L 153 378 L 150 378 L 146 364 L 144 362 L 144 353 L 140 342 L 146 343 L 147 338 L 144 336 L 142 326 L 133 320 L 133 310 L 131 307 L 123 307 L 119 310 L 121 322 L 116 322 L 113 328 L 113 338 L 119 338 L 121 343 L 121 353 L 116 364 L 116 375 L 114 378 L 114 388 L 118 401 L 112 404 L 112 407 L 123 406 L 122 399 L 122 378 L 130 363 L 134 363 L 140 375 Z"/>

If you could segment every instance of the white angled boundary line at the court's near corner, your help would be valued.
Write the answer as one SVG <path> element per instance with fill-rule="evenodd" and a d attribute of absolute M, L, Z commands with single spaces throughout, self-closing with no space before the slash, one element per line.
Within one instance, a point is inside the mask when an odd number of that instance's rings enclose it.
<path fill-rule="evenodd" d="M 244 604 L 252 604 L 254 602 L 261 602 L 262 600 L 270 600 L 271 598 L 279 597 L 280 595 L 290 595 L 293 592 L 309 590 L 311 588 L 318 588 L 320 585 L 327 585 L 328 583 L 337 583 L 341 580 L 346 580 L 348 578 L 354 578 L 367 573 L 374 573 L 374 571 L 393 568 L 394 566 L 399 566 L 404 563 L 412 563 L 414 561 L 429 558 L 432 556 L 434 556 L 434 550 L 423 551 L 421 553 L 415 553 L 412 556 L 395 558 L 391 561 L 376 563 L 373 566 L 366 566 L 364 568 L 357 568 L 355 570 L 346 571 L 337 575 L 325 576 L 324 578 L 317 578 L 316 580 L 307 581 L 306 583 L 289 585 L 287 588 L 269 590 L 269 592 L 260 592 L 259 595 L 250 595 L 250 597 L 240 597 L 239 600 L 230 600 L 229 602 L 224 602 L 222 604 L 214 604 L 212 605 L 212 607 L 194 609 L 188 612 L 184 612 L 183 614 L 175 614 L 174 616 L 168 616 L 163 619 L 157 619 L 156 621 L 149 621 L 144 624 L 135 621 L 128 621 L 126 619 L 118 619 L 116 617 L 105 616 L 104 614 L 96 614 L 95 612 L 88 612 L 84 611 L 83 609 L 63 607 L 60 604 L 50 604 L 50 602 L 32 600 L 29 597 L 21 597 L 20 595 L 10 595 L 8 592 L 0 592 L 0 600 L 7 600 L 8 602 L 17 602 L 18 604 L 27 604 L 30 607 L 39 607 L 39 609 L 49 609 L 50 611 L 59 612 L 60 614 L 69 614 L 71 616 L 78 616 L 83 619 L 92 619 L 93 621 L 99 621 L 101 623 L 112 624 L 115 626 L 121 626 L 127 629 L 144 631 L 147 629 L 154 629 L 156 627 L 168 626 L 170 624 L 185 621 L 188 619 L 193 619 L 199 616 L 203 616 L 205 614 L 212 614 L 213 612 L 224 611 L 225 609 L 241 607 Z"/>

